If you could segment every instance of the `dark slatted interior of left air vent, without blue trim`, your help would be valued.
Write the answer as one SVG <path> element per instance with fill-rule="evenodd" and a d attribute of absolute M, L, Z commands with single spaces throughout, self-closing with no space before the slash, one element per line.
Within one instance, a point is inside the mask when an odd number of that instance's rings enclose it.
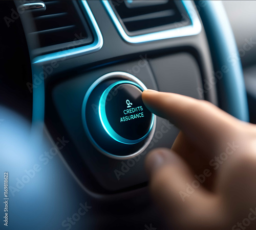
<path fill-rule="evenodd" d="M 40 52 L 52 53 L 93 43 L 88 22 L 76 1 L 44 3 L 46 10 L 32 12 L 35 28 L 30 31 L 30 35 L 37 36 L 39 47 L 44 47 Z"/>

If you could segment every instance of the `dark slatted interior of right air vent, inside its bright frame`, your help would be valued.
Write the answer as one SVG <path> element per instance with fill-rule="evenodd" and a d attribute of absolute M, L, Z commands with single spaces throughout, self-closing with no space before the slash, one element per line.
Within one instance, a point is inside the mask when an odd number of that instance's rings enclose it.
<path fill-rule="evenodd" d="M 174 28 L 178 22 L 179 27 L 191 23 L 182 17 L 185 9 L 179 1 L 111 1 L 111 4 L 127 33 L 132 36 Z"/>

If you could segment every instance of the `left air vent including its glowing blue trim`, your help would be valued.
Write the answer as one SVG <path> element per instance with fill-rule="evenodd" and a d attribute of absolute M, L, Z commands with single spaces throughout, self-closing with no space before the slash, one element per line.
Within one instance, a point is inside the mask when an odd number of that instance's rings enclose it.
<path fill-rule="evenodd" d="M 64 61 L 99 50 L 103 38 L 87 1 L 15 1 L 32 63 Z"/>

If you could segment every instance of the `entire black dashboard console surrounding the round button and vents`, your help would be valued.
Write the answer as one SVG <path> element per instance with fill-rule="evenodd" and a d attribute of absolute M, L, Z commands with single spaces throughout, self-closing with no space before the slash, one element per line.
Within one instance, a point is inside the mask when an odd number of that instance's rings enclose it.
<path fill-rule="evenodd" d="M 203 27 L 193 36 L 132 44 L 120 35 L 101 1 L 86 3 L 102 35 L 103 45 L 95 52 L 38 62 L 33 48 L 35 41 L 27 36 L 33 74 L 45 75 L 45 107 L 37 103 L 37 111 L 45 111 L 41 116 L 45 117 L 52 136 L 65 135 L 72 140 L 72 147 L 63 150 L 62 155 L 84 187 L 102 194 L 130 191 L 147 182 L 146 152 L 155 147 L 171 147 L 179 131 L 157 118 L 153 139 L 141 155 L 130 160 L 111 159 L 92 145 L 83 129 L 84 95 L 100 76 L 122 71 L 134 75 L 149 89 L 180 93 L 217 104 L 216 89 L 203 90 L 203 82 L 212 74 L 209 48 Z M 200 20 L 199 15 L 197 17 Z M 27 33 L 28 27 L 33 26 L 31 15 L 28 12 L 21 18 Z M 36 87 L 34 92 L 40 94 Z"/>

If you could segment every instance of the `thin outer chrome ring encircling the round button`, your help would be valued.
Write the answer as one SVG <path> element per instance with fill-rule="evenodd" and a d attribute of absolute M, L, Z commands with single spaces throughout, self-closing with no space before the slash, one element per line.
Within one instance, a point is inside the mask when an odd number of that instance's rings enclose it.
<path fill-rule="evenodd" d="M 137 157 L 138 155 L 140 155 L 145 149 L 146 147 L 150 144 L 151 140 L 153 139 L 155 130 L 156 130 L 156 121 L 157 121 L 157 116 L 154 114 L 154 124 L 152 127 L 152 130 L 150 132 L 150 134 L 148 135 L 148 137 L 146 138 L 146 142 L 145 144 L 136 152 L 134 152 L 133 154 L 127 155 L 127 156 L 117 156 L 117 155 L 113 155 L 110 152 L 105 151 L 103 148 L 101 148 L 96 141 L 93 139 L 92 135 L 90 134 L 90 131 L 88 129 L 87 123 L 86 123 L 86 104 L 87 104 L 87 100 L 91 94 L 91 92 L 93 91 L 93 89 L 100 84 L 101 82 L 108 80 L 108 79 L 113 79 L 119 77 L 121 79 L 124 80 L 128 80 L 128 81 L 132 81 L 137 83 L 139 86 L 142 87 L 142 89 L 146 90 L 146 86 L 139 80 L 137 79 L 134 75 L 130 74 L 130 73 L 126 73 L 126 72 L 110 72 L 110 73 L 106 73 L 103 76 L 101 76 L 100 78 L 98 78 L 87 90 L 86 95 L 83 98 L 83 103 L 82 103 L 82 110 L 81 110 L 81 116 L 82 116 L 82 123 L 83 123 L 83 127 L 84 130 L 86 131 L 86 134 L 90 140 L 90 142 L 92 143 L 92 145 L 99 150 L 103 155 L 110 157 L 112 159 L 116 159 L 116 160 L 128 160 L 134 157 Z"/>

